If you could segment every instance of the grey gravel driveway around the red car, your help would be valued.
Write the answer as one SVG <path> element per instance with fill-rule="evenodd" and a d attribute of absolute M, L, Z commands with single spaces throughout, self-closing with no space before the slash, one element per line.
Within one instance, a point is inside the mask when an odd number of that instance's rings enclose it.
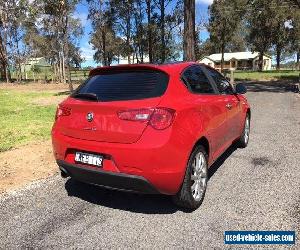
<path fill-rule="evenodd" d="M 299 235 L 300 98 L 282 87 L 251 90 L 251 142 L 213 165 L 198 210 L 54 176 L 0 197 L 0 248 L 223 249 L 233 247 L 223 244 L 225 230 Z"/>

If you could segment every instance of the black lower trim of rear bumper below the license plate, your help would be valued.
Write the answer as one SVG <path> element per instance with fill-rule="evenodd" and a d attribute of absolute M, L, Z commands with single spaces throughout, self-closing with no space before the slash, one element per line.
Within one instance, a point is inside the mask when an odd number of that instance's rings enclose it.
<path fill-rule="evenodd" d="M 61 160 L 57 160 L 57 164 L 62 172 L 82 182 L 122 191 L 147 194 L 159 193 L 155 187 L 141 176 L 91 169 Z"/>

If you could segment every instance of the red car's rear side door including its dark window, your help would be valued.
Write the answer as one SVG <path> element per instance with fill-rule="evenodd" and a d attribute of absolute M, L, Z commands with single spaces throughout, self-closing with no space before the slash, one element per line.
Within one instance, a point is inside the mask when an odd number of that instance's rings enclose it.
<path fill-rule="evenodd" d="M 228 133 L 227 99 L 218 94 L 218 90 L 202 67 L 193 65 L 185 70 L 183 77 L 188 88 L 195 96 L 194 104 L 204 122 L 208 122 L 207 129 L 210 138 L 212 157 L 216 158 L 226 146 L 224 134 Z"/>

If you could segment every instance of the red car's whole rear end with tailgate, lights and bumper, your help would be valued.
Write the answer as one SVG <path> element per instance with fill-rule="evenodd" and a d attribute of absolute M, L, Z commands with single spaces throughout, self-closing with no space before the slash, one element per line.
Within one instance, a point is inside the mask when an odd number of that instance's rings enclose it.
<path fill-rule="evenodd" d="M 187 154 L 174 137 L 176 110 L 162 103 L 177 78 L 151 65 L 93 70 L 57 109 L 52 142 L 62 174 L 115 189 L 175 194 Z"/>

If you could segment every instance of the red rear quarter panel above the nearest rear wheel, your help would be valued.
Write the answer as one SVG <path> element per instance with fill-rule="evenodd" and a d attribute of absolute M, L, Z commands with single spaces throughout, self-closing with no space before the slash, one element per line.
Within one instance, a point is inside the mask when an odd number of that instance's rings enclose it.
<path fill-rule="evenodd" d="M 217 110 L 207 105 L 213 96 L 191 94 L 181 82 L 180 74 L 174 74 L 170 81 L 159 106 L 176 110 L 172 136 L 176 137 L 177 146 L 182 148 L 181 152 L 185 154 L 187 162 L 194 145 L 201 137 L 206 137 L 211 145 L 213 138 L 210 132 L 215 129 L 219 118 L 214 115 Z"/>

